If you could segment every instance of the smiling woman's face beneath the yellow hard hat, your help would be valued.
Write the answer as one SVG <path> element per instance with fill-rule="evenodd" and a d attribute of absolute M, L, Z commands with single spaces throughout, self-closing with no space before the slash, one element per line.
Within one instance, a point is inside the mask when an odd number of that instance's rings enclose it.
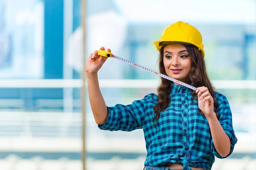
<path fill-rule="evenodd" d="M 188 83 L 191 57 L 183 45 L 166 45 L 163 48 L 163 65 L 169 77 Z"/>

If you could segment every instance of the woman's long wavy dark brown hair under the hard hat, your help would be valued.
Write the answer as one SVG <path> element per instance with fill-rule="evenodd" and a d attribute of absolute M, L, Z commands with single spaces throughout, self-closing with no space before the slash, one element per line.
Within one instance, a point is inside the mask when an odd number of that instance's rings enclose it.
<path fill-rule="evenodd" d="M 191 57 L 191 69 L 189 72 L 188 82 L 191 83 L 191 85 L 194 87 L 205 86 L 208 88 L 209 93 L 211 94 L 214 101 L 214 111 L 216 113 L 216 109 L 218 108 L 218 101 L 215 98 L 215 94 L 214 94 L 215 89 L 213 88 L 209 80 L 209 77 L 206 71 L 206 65 L 204 62 L 204 57 L 201 51 L 199 51 L 198 48 L 192 44 L 189 44 L 189 45 L 181 44 L 181 45 L 183 45 L 186 48 L 186 50 L 189 53 L 189 56 Z M 159 72 L 167 76 L 165 67 L 163 65 L 163 47 L 161 48 L 158 62 L 159 62 Z M 160 112 L 164 111 L 170 105 L 170 102 L 171 102 L 170 93 L 172 90 L 171 83 L 172 82 L 170 80 L 161 77 L 161 82 L 157 87 L 158 102 L 157 102 L 157 105 L 154 106 L 155 116 L 153 119 L 153 124 L 159 119 Z M 195 91 L 192 92 L 192 97 L 196 100 L 198 99 L 198 96 L 195 93 Z M 200 113 L 204 116 L 204 113 L 201 110 L 200 110 Z M 216 116 L 217 118 L 219 118 L 219 115 L 217 113 L 216 113 Z"/>

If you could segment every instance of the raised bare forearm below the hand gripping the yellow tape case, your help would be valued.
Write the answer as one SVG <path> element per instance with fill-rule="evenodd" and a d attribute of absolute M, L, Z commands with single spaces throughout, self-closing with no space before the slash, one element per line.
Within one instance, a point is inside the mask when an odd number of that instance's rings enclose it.
<path fill-rule="evenodd" d="M 98 125 L 104 125 L 108 119 L 108 109 L 99 89 L 99 80 L 97 74 L 87 73 L 87 86 L 90 105 L 95 122 Z"/>

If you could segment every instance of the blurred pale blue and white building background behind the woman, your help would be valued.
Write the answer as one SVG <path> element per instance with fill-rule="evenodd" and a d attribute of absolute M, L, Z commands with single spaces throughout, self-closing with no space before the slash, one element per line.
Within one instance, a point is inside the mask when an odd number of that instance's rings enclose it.
<path fill-rule="evenodd" d="M 238 138 L 212 170 L 256 170 L 256 0 L 0 0 L 0 170 L 143 170 L 143 130 L 99 130 L 83 81 L 101 46 L 158 70 L 153 41 L 182 20 L 203 36 L 215 88 L 230 102 Z M 85 28 L 81 21 L 85 20 Z M 83 32 L 85 31 L 85 46 Z M 108 59 L 99 71 L 108 106 L 155 93 L 159 77 Z"/>

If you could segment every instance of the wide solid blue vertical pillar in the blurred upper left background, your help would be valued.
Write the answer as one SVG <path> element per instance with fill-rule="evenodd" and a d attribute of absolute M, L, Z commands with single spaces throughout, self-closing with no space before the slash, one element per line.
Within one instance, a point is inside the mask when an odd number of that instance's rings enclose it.
<path fill-rule="evenodd" d="M 63 78 L 63 0 L 44 0 L 44 78 Z"/>

